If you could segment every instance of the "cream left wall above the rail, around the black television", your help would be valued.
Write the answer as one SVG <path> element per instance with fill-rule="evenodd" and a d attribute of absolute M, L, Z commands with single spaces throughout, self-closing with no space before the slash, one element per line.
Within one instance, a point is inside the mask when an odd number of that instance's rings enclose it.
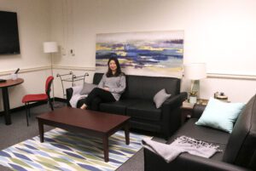
<path fill-rule="evenodd" d="M 0 10 L 17 13 L 20 36 L 20 54 L 1 55 L 0 71 L 49 66 L 48 54 L 44 54 L 42 48 L 43 42 L 50 38 L 49 1 L 0 0 L 0 3 Z"/>

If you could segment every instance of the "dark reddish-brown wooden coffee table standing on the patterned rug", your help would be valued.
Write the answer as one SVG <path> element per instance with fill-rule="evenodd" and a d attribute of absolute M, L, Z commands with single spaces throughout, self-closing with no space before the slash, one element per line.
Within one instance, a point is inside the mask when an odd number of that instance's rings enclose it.
<path fill-rule="evenodd" d="M 44 113 L 38 118 L 40 142 L 44 142 L 44 124 L 102 138 L 105 162 L 108 162 L 108 137 L 125 128 L 125 143 L 130 144 L 130 117 L 100 111 L 63 107 Z"/>

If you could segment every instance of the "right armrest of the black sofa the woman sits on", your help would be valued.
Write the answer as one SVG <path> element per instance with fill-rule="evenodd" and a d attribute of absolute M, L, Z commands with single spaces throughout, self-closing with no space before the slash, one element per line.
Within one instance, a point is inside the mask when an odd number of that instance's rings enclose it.
<path fill-rule="evenodd" d="M 187 93 L 183 92 L 177 95 L 171 96 L 167 99 L 162 107 L 162 133 L 167 140 L 181 124 L 181 105 L 186 100 Z"/>

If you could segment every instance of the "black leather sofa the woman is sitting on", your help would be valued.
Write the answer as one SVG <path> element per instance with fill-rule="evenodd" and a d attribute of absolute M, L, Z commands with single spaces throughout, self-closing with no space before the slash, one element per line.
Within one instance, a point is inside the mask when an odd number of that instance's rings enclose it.
<path fill-rule="evenodd" d="M 180 79 L 174 77 L 145 77 L 126 75 L 126 88 L 119 101 L 101 103 L 100 111 L 131 117 L 131 128 L 160 133 L 165 138 L 174 133 L 181 123 L 181 105 L 186 93 L 180 93 Z M 102 73 L 95 73 L 93 83 L 98 84 Z M 155 108 L 153 98 L 160 89 L 172 94 L 164 104 Z M 67 105 L 73 88 L 67 88 Z M 77 107 L 84 104 L 79 100 Z"/>

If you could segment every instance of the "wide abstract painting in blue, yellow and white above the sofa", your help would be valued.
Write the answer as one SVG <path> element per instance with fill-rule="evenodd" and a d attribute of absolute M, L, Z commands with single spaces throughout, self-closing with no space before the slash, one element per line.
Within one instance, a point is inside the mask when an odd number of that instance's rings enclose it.
<path fill-rule="evenodd" d="M 183 31 L 97 34 L 96 71 L 106 72 L 112 56 L 125 74 L 182 77 Z"/>

